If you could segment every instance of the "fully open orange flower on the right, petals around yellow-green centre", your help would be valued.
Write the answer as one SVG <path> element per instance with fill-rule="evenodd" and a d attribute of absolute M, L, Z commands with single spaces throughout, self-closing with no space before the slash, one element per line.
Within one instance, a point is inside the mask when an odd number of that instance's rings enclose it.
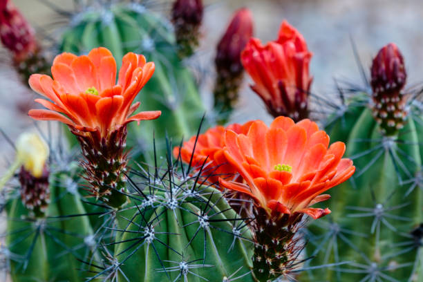
<path fill-rule="evenodd" d="M 227 189 L 249 194 L 267 214 L 303 213 L 316 219 L 329 209 L 310 205 L 330 198 L 321 195 L 353 175 L 353 161 L 342 158 L 343 142 L 328 148 L 329 136 L 316 123 L 276 118 L 270 127 L 261 121 L 248 133 L 225 133 L 225 157 L 245 183 L 220 178 Z"/>

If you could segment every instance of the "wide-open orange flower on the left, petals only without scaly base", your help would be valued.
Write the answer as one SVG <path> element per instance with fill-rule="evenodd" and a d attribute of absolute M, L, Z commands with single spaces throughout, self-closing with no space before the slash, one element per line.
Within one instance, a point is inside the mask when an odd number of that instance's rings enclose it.
<path fill-rule="evenodd" d="M 116 84 L 116 62 L 106 48 L 95 48 L 88 56 L 62 53 L 53 62 L 53 79 L 38 74 L 29 79 L 31 88 L 52 102 L 35 101 L 51 111 L 33 109 L 28 114 L 36 120 L 58 120 L 79 131 L 100 131 L 106 137 L 128 122 L 160 116 L 160 111 L 144 111 L 130 117 L 140 106 L 140 102 L 131 105 L 135 96 L 153 72 L 153 62 L 128 53 Z"/>

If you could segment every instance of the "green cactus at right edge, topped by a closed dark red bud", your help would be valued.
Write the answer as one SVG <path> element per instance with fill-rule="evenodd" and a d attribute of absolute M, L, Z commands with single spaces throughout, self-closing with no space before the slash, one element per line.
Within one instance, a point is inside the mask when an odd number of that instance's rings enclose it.
<path fill-rule="evenodd" d="M 422 108 L 413 91 L 403 90 L 404 60 L 395 44 L 379 51 L 371 73 L 366 88 L 349 96 L 340 90 L 343 104 L 326 125 L 332 140 L 349 145 L 357 173 L 333 191 L 328 223 L 310 227 L 312 263 L 346 264 L 304 274 L 304 281 L 422 279 Z"/>

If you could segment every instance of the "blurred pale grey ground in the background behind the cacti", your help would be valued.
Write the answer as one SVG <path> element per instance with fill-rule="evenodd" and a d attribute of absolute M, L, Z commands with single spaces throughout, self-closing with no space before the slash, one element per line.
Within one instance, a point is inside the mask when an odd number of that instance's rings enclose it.
<path fill-rule="evenodd" d="M 56 22 L 63 19 L 41 0 L 15 0 L 37 30 L 50 35 Z M 50 0 L 64 10 L 70 10 L 70 0 Z M 275 39 L 282 19 L 300 30 L 314 53 L 310 72 L 314 75 L 312 91 L 331 96 L 334 77 L 348 77 L 359 83 L 359 72 L 350 44 L 350 37 L 357 44 L 364 66 L 377 50 L 388 42 L 395 42 L 405 57 L 408 82 L 421 82 L 423 62 L 423 1 L 420 0 L 205 0 L 207 10 L 203 26 L 203 44 L 200 47 L 203 68 L 209 79 L 203 86 L 203 96 L 209 100 L 213 82 L 216 41 L 225 30 L 229 18 L 237 8 L 247 6 L 253 11 L 255 35 L 263 41 Z M 57 32 L 56 32 L 57 33 Z M 33 131 L 33 122 L 26 115 L 28 103 L 35 95 L 23 86 L 8 63 L 7 53 L 0 49 L 0 129 L 15 140 L 22 131 Z M 247 82 L 245 82 L 247 84 Z M 264 106 L 247 86 L 232 120 L 262 118 L 269 121 Z M 45 124 L 41 124 L 45 126 Z M 12 147 L 0 137 L 0 175 L 12 160 Z M 0 223 L 1 224 L 1 223 Z"/>

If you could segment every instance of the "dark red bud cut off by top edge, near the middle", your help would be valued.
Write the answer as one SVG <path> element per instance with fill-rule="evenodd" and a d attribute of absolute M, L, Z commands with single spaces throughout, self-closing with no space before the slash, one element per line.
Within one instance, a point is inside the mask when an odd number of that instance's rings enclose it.
<path fill-rule="evenodd" d="M 203 12 L 202 0 L 176 0 L 173 3 L 171 18 L 180 55 L 189 56 L 198 46 L 198 30 L 203 21 Z"/>

